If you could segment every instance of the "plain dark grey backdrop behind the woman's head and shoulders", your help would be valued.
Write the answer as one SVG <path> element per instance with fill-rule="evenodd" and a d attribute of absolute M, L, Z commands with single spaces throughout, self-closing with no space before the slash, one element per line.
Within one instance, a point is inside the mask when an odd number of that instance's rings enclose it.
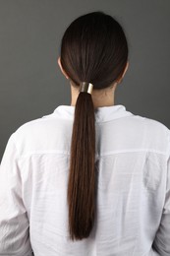
<path fill-rule="evenodd" d="M 0 159 L 22 124 L 71 104 L 57 65 L 60 40 L 91 11 L 114 16 L 128 37 L 130 68 L 115 104 L 170 128 L 169 0 L 0 0 Z"/>

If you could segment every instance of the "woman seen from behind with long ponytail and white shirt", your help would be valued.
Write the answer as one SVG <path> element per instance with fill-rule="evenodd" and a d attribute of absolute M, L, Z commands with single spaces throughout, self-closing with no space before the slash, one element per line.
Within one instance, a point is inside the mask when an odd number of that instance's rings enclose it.
<path fill-rule="evenodd" d="M 170 255 L 170 130 L 114 104 L 128 69 L 120 24 L 66 30 L 71 105 L 21 126 L 0 170 L 0 255 Z"/>

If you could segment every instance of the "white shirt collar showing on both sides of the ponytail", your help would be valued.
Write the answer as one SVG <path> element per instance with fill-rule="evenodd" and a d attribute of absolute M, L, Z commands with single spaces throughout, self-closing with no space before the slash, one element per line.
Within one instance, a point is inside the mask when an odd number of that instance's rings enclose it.
<path fill-rule="evenodd" d="M 56 117 L 62 119 L 74 120 L 75 106 L 73 105 L 59 105 L 53 112 Z M 122 104 L 115 104 L 111 106 L 102 106 L 94 109 L 95 122 L 107 122 L 113 119 L 124 116 L 133 115 L 132 112 L 127 111 Z"/>

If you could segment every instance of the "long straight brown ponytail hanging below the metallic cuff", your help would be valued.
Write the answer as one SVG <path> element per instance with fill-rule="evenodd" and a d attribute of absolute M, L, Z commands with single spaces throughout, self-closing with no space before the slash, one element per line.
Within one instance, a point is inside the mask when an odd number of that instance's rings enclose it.
<path fill-rule="evenodd" d="M 88 237 L 95 216 L 95 115 L 90 94 L 80 93 L 75 106 L 68 181 L 71 239 Z"/>

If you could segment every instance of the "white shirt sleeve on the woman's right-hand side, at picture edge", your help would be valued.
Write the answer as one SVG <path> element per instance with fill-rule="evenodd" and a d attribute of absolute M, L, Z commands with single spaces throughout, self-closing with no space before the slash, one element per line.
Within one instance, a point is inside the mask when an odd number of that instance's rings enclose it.
<path fill-rule="evenodd" d="M 165 202 L 161 222 L 153 241 L 153 248 L 161 256 L 170 256 L 170 136 L 167 159 Z"/>

